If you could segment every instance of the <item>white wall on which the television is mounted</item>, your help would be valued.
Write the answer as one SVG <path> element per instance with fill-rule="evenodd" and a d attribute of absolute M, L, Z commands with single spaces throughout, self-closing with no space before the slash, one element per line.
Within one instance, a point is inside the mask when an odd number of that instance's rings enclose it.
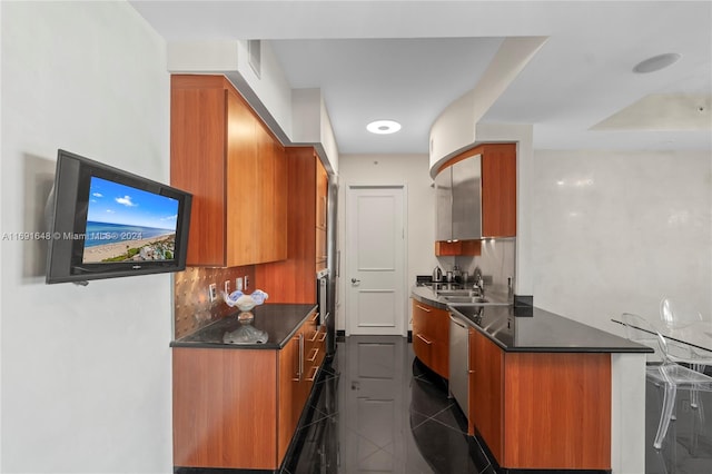
<path fill-rule="evenodd" d="M 169 178 L 164 40 L 126 2 L 1 2 L 2 233 L 42 229 L 58 148 Z M 167 473 L 170 276 L 44 285 L 44 245 L 0 240 L 8 473 Z"/>

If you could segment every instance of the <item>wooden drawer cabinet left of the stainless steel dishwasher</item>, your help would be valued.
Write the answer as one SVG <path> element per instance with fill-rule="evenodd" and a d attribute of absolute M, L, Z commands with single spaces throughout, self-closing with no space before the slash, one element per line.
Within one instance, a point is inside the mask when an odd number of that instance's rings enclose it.
<path fill-rule="evenodd" d="M 449 377 L 449 313 L 413 299 L 413 352 L 442 377 Z"/>

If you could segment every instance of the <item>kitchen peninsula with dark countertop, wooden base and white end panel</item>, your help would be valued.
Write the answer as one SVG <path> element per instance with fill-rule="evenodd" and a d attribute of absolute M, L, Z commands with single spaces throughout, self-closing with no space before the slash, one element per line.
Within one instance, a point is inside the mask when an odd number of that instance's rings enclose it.
<path fill-rule="evenodd" d="M 532 306 L 447 304 L 427 286 L 413 287 L 411 297 L 414 352 L 417 318 L 426 327 L 455 318 L 448 323 L 467 328 L 467 361 L 453 365 L 451 356 L 447 378 L 466 378 L 468 433 L 501 467 L 644 472 L 651 348 Z M 425 338 L 431 352 L 442 344 Z"/>

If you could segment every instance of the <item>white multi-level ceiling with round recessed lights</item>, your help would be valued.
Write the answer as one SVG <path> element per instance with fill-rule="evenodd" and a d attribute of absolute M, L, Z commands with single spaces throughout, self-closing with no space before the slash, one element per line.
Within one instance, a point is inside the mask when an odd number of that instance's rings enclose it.
<path fill-rule="evenodd" d="M 268 40 L 293 88 L 322 89 L 340 154 L 427 154 L 437 116 L 523 36 L 548 40 L 481 122 L 532 124 L 536 149 L 712 150 L 711 1 L 130 3 L 169 42 Z M 682 58 L 632 71 L 666 52 Z"/>

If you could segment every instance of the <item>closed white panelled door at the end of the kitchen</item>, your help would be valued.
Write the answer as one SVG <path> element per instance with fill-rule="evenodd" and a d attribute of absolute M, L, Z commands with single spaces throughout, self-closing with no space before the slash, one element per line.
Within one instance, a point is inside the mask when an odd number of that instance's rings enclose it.
<path fill-rule="evenodd" d="M 346 189 L 347 334 L 406 334 L 404 195 L 404 186 Z"/>

